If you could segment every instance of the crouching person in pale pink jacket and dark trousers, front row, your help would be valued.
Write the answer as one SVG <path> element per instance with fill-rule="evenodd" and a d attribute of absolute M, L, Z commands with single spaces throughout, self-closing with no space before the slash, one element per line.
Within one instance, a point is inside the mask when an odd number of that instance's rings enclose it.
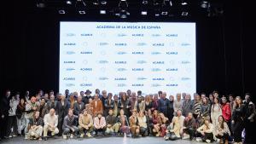
<path fill-rule="evenodd" d="M 94 118 L 95 136 L 98 135 L 99 131 L 101 131 L 102 135 L 104 135 L 105 127 L 106 127 L 106 120 L 104 117 L 102 117 L 102 112 L 98 112 L 97 116 Z"/>

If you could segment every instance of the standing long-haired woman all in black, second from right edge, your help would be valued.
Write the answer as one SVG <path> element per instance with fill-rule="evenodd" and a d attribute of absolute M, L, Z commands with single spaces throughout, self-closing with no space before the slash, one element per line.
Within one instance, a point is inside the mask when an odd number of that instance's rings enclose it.
<path fill-rule="evenodd" d="M 245 119 L 245 106 L 242 104 L 241 97 L 236 96 L 234 103 L 234 111 L 232 114 L 232 124 L 234 130 L 234 141 L 237 143 L 242 143 L 241 132 L 244 129 L 244 119 Z"/>

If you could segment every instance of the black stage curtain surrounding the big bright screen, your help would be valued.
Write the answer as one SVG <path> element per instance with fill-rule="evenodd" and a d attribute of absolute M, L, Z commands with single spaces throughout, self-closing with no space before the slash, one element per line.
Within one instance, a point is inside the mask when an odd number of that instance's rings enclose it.
<path fill-rule="evenodd" d="M 38 89 L 58 90 L 60 20 L 114 21 L 94 15 L 85 18 L 35 11 L 26 9 L 23 2 L 7 4 L 12 6 L 1 6 L 1 95 L 5 89 L 22 95 L 26 89 L 32 95 Z M 221 95 L 255 95 L 253 9 L 246 3 L 227 1 L 223 16 L 200 13 L 195 11 L 188 19 L 159 20 L 196 22 L 197 91 L 208 94 L 218 89 Z M 146 20 L 134 17 L 130 21 Z"/>

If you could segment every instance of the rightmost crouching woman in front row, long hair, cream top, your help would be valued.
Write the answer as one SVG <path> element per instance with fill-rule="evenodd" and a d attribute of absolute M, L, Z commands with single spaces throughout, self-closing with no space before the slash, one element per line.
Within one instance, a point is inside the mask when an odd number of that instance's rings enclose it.
<path fill-rule="evenodd" d="M 229 143 L 230 129 L 228 124 L 225 122 L 223 116 L 218 117 L 218 124 L 216 129 L 216 137 L 220 139 L 220 143 Z"/>

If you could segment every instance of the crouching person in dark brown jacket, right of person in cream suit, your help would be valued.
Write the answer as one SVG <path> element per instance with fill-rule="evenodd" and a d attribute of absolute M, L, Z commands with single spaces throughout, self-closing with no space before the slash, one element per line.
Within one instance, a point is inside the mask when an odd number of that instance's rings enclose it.
<path fill-rule="evenodd" d="M 186 117 L 184 120 L 183 139 L 193 140 L 195 135 L 195 129 L 196 129 L 195 118 L 193 117 L 193 114 L 189 112 L 188 117 Z"/>

